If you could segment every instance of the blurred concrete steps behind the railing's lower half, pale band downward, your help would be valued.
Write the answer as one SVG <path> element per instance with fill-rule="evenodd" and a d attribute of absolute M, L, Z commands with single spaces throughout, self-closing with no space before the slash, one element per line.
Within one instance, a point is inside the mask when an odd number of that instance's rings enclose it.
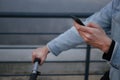
<path fill-rule="evenodd" d="M 3 46 L 2 46 L 3 47 Z M 0 49 L 0 80 L 26 80 L 32 71 L 31 53 L 38 46 L 4 46 L 10 49 Z M 42 46 L 40 46 L 42 47 Z M 80 47 L 85 47 L 82 45 Z M 69 56 L 68 56 L 69 55 Z M 46 62 L 39 66 L 41 76 L 38 80 L 84 80 L 86 49 L 70 49 L 59 56 L 50 53 Z M 99 80 L 109 68 L 107 62 L 101 59 L 102 52 L 91 49 L 89 80 Z"/>

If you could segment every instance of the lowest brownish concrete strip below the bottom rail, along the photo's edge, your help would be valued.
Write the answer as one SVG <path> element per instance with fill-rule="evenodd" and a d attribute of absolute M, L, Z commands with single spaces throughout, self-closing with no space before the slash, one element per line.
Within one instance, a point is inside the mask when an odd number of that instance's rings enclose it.
<path fill-rule="evenodd" d="M 101 76 L 102 75 L 90 75 L 89 80 L 100 80 Z M 29 80 L 29 77 L 0 77 L 0 80 Z M 84 76 L 39 76 L 37 80 L 84 80 Z"/>

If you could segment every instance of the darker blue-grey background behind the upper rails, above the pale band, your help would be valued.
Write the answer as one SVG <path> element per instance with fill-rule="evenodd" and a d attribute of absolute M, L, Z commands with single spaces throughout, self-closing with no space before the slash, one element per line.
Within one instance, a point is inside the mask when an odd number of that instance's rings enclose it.
<path fill-rule="evenodd" d="M 32 13 L 94 13 L 110 0 L 0 0 L 0 12 Z M 0 18 L 0 32 L 62 33 L 72 26 L 72 19 L 64 18 Z M 53 36 L 0 35 L 2 45 L 46 44 Z"/>

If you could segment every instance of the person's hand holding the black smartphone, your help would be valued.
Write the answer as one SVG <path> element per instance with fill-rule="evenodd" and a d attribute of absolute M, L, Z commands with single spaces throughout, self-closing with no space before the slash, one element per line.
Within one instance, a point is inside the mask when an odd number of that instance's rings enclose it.
<path fill-rule="evenodd" d="M 86 43 L 101 49 L 105 53 L 108 52 L 112 40 L 99 25 L 88 23 L 86 26 L 82 26 L 74 22 L 74 26 Z"/>

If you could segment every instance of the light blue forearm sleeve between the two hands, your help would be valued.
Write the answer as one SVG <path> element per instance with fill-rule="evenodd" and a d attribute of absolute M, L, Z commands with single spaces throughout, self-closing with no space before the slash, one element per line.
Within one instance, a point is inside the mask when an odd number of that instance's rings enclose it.
<path fill-rule="evenodd" d="M 58 55 L 60 52 L 68 50 L 83 42 L 75 27 L 70 28 L 66 32 L 59 35 L 57 38 L 50 41 L 47 46 L 49 50 Z"/>

